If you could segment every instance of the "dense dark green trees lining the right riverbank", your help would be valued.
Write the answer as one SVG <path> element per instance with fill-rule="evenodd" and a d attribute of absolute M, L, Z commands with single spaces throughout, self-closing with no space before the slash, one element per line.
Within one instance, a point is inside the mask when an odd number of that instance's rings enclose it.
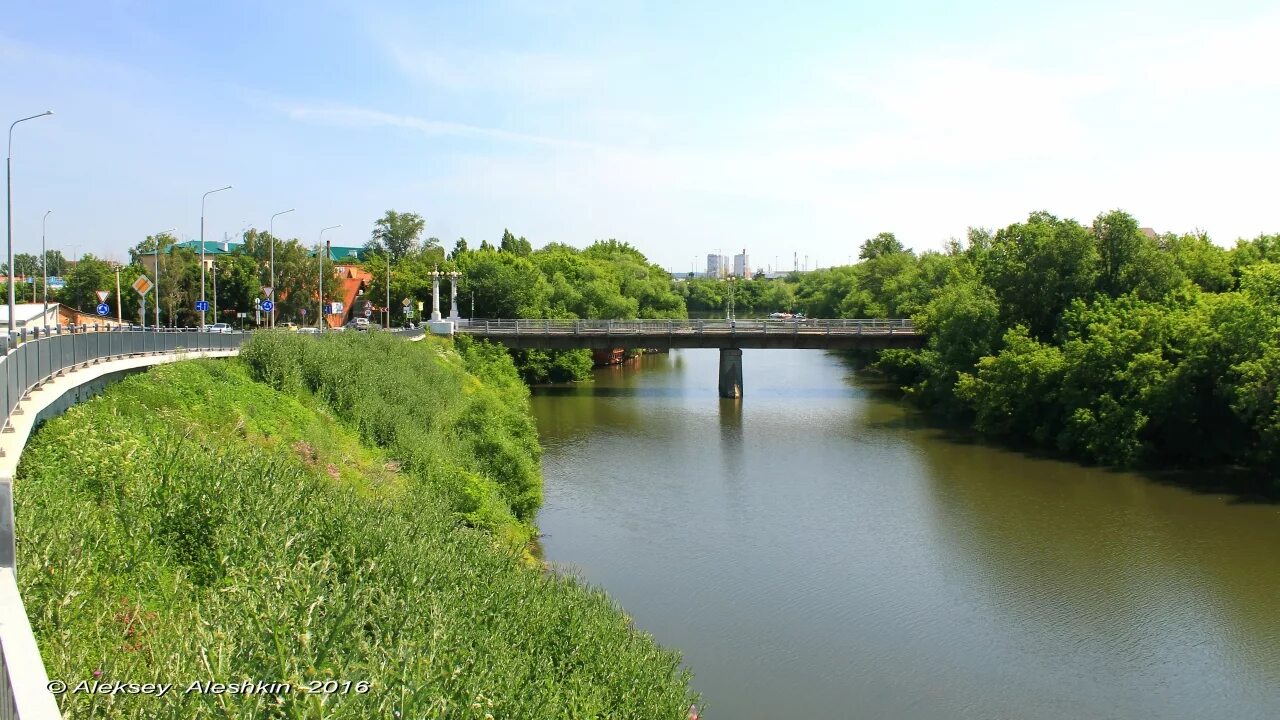
<path fill-rule="evenodd" d="M 1129 214 L 1033 213 L 919 255 L 792 277 L 812 316 L 909 316 L 922 351 L 874 357 L 906 393 L 1015 445 L 1112 466 L 1280 474 L 1280 236 L 1224 249 Z"/>

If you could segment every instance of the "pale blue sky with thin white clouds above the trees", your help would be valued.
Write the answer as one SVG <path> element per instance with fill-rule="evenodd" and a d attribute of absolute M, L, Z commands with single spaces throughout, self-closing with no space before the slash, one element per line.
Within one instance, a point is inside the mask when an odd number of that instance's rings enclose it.
<path fill-rule="evenodd" d="M 1280 232 L 1275 3 L 14 0 L 14 251 L 177 228 L 617 238 L 676 270 L 1036 210 Z"/>

